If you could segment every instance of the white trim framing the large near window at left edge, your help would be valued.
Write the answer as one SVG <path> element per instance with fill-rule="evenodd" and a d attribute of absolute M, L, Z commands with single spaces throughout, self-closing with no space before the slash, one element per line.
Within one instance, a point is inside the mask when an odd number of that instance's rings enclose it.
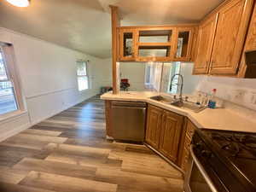
<path fill-rule="evenodd" d="M 17 105 L 17 110 L 9 112 L 9 113 L 3 113 L 0 114 L 0 121 L 13 118 L 15 116 L 20 116 L 23 113 L 27 113 L 23 98 L 21 92 L 21 85 L 20 85 L 20 76 L 16 68 L 16 62 L 15 62 L 15 49 L 12 44 L 0 44 L 2 53 L 3 53 L 3 60 L 4 65 L 6 69 L 6 73 L 9 77 L 9 81 L 12 82 L 14 86 L 14 92 L 15 92 L 15 100 Z"/>

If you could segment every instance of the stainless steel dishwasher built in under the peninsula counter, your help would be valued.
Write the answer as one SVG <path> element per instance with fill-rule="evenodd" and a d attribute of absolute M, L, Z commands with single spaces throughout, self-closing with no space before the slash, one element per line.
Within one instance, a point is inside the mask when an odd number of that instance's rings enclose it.
<path fill-rule="evenodd" d="M 112 102 L 113 138 L 143 142 L 146 110 L 145 102 Z"/>

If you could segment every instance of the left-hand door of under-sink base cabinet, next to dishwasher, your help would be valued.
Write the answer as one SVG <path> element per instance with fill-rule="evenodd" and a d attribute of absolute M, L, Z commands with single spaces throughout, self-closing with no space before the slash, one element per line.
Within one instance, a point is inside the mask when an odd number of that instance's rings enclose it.
<path fill-rule="evenodd" d="M 148 106 L 146 143 L 158 149 L 163 110 L 152 105 Z"/>

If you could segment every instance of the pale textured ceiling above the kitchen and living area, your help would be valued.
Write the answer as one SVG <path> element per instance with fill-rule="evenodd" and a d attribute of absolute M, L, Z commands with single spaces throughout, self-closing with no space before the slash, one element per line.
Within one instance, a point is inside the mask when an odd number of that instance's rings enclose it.
<path fill-rule="evenodd" d="M 122 25 L 196 22 L 223 0 L 32 0 L 16 8 L 0 0 L 0 26 L 100 58 L 111 55 L 108 4 Z"/>

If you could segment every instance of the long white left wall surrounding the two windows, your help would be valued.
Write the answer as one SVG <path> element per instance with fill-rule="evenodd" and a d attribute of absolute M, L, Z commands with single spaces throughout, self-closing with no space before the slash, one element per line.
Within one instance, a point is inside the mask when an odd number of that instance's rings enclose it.
<path fill-rule="evenodd" d="M 27 113 L 0 121 L 0 140 L 99 93 L 101 59 L 5 28 L 0 28 L 0 41 L 14 45 L 27 107 Z M 90 61 L 90 90 L 83 92 L 79 92 L 76 78 L 80 59 Z"/>

